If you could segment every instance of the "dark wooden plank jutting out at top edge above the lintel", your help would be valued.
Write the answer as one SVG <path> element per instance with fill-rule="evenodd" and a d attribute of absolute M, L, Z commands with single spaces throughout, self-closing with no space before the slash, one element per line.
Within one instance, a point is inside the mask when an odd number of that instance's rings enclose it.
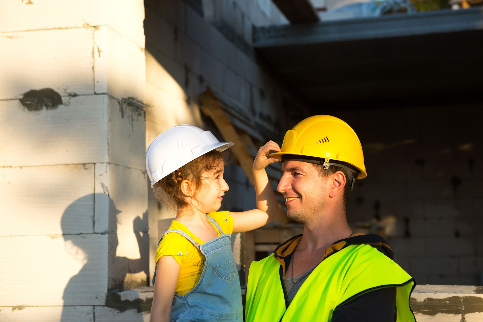
<path fill-rule="evenodd" d="M 292 24 L 319 21 L 319 15 L 309 0 L 273 0 L 273 3 Z"/>

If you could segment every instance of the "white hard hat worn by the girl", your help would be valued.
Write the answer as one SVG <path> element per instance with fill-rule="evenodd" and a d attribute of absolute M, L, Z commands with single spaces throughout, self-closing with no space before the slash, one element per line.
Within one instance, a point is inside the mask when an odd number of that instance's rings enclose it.
<path fill-rule="evenodd" d="M 174 170 L 213 150 L 224 151 L 233 143 L 216 140 L 210 131 L 182 124 L 159 134 L 146 151 L 146 170 L 151 187 Z"/>

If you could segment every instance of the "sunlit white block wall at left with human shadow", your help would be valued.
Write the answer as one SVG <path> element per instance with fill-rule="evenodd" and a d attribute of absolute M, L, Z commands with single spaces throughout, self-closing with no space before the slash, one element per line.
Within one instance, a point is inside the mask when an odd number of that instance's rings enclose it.
<path fill-rule="evenodd" d="M 147 284 L 143 19 L 0 4 L 1 321 L 99 321 L 110 290 Z"/>

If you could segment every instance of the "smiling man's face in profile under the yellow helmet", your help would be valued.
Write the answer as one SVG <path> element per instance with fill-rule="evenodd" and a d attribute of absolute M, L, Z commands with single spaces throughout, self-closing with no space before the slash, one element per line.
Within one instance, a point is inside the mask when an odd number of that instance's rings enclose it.
<path fill-rule="evenodd" d="M 282 179 L 277 190 L 284 195 L 287 217 L 307 224 L 327 204 L 327 183 L 311 163 L 287 160 L 282 163 Z"/>

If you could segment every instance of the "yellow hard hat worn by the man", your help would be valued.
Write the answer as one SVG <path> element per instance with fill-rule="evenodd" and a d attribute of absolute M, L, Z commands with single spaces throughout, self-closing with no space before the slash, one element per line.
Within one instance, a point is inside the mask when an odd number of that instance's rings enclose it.
<path fill-rule="evenodd" d="M 359 170 L 357 179 L 367 176 L 359 138 L 352 127 L 334 116 L 314 115 L 288 130 L 282 152 L 272 153 L 270 157 L 282 160 L 286 154 L 324 159 L 327 168 L 330 161 L 336 166 L 338 161 L 345 162 Z"/>

